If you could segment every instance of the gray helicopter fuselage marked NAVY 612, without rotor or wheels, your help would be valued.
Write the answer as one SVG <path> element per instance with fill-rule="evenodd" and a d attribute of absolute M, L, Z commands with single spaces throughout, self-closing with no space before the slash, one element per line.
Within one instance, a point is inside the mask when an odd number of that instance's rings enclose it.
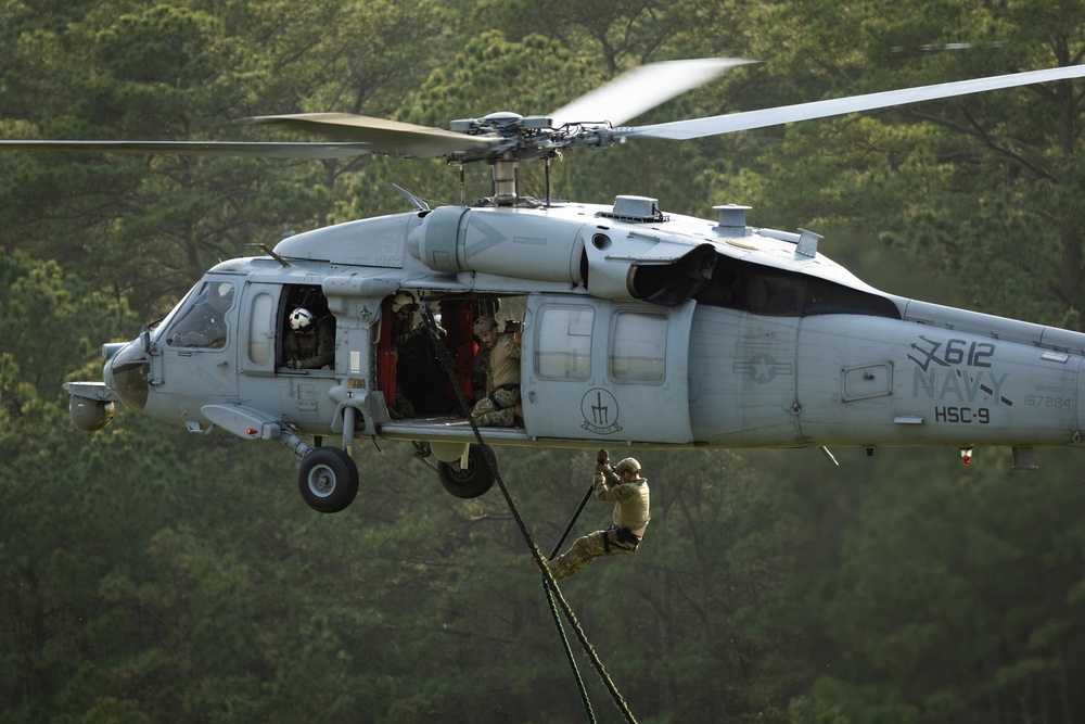
<path fill-rule="evenodd" d="M 450 339 L 463 305 L 523 302 L 524 427 L 484 429 L 489 443 L 1081 443 L 1085 334 L 884 294 L 816 245 L 746 227 L 742 207 L 714 223 L 636 196 L 353 221 L 290 237 L 278 258 L 218 265 L 155 329 L 111 348 L 104 386 L 71 390 L 193 432 L 375 435 L 451 459 L 473 440 L 458 407 L 390 411 L 388 300 L 407 290 L 441 305 Z M 289 368 L 285 315 L 314 290 L 334 320 L 334 364 Z M 216 295 L 228 307 L 200 312 Z"/>

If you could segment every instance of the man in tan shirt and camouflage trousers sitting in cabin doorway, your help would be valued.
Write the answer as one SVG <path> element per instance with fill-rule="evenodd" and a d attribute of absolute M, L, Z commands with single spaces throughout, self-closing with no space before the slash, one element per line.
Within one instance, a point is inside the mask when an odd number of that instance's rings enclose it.
<path fill-rule="evenodd" d="M 475 321 L 474 333 L 489 350 L 489 368 L 486 371 L 486 396 L 475 403 L 471 417 L 480 427 L 522 427 L 520 332 L 498 332 L 497 322 L 486 316 Z"/>

